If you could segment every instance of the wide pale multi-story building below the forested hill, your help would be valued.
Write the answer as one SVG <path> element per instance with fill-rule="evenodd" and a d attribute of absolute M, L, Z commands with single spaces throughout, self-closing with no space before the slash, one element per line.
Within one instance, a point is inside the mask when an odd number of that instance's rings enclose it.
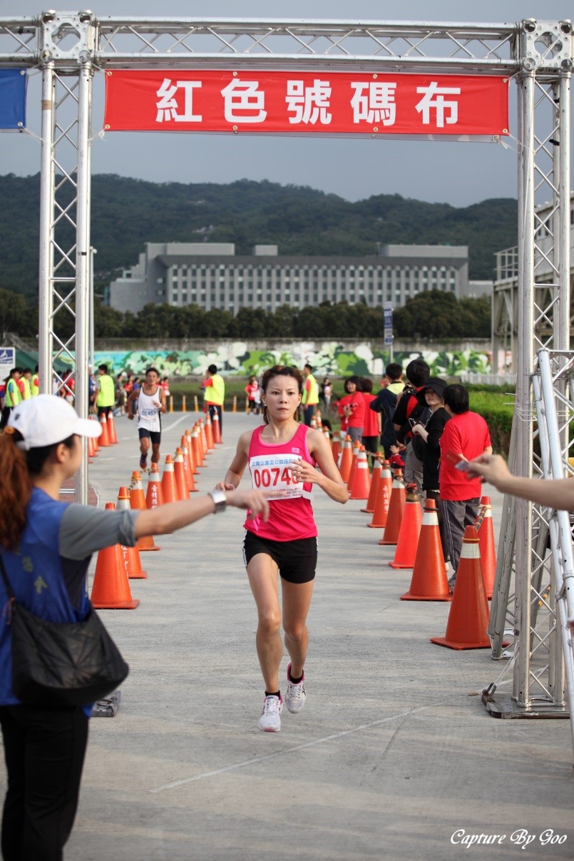
<path fill-rule="evenodd" d="M 481 282 L 482 283 L 482 282 Z M 146 243 L 139 262 L 108 287 L 118 311 L 148 302 L 197 304 L 237 314 L 242 307 L 275 312 L 321 302 L 404 305 L 424 290 L 472 294 L 466 245 L 382 245 L 373 257 L 282 256 L 276 245 L 236 255 L 232 243 Z"/>

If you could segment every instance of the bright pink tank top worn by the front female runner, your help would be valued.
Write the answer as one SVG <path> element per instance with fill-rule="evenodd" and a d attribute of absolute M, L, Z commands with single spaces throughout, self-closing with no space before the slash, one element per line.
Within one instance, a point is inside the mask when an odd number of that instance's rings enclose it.
<path fill-rule="evenodd" d="M 245 521 L 246 530 L 272 541 L 294 541 L 298 538 L 313 538 L 317 526 L 311 505 L 312 483 L 301 484 L 293 480 L 287 464 L 299 459 L 315 466 L 315 460 L 307 446 L 306 424 L 299 424 L 294 436 L 287 443 L 265 443 L 262 441 L 263 427 L 256 428 L 251 435 L 248 454 L 251 483 L 257 489 L 277 489 L 287 492 L 287 497 L 269 500 L 269 519 L 262 517 Z"/>

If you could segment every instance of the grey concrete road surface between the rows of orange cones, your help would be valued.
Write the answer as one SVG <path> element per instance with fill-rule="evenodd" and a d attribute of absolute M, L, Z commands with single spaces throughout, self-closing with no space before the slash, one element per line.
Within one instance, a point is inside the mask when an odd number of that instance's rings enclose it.
<path fill-rule="evenodd" d="M 168 414 L 163 456 L 194 418 Z M 225 413 L 200 492 L 258 421 Z M 116 428 L 119 445 L 90 468 L 100 505 L 138 468 L 135 425 Z M 497 526 L 502 500 L 491 495 Z M 242 514 L 207 517 L 141 554 L 137 610 L 102 611 L 131 673 L 118 715 L 91 722 L 66 858 L 574 857 L 569 722 L 487 715 L 480 691 L 508 678 L 506 665 L 489 649 L 429 642 L 444 635 L 449 604 L 399 600 L 411 572 L 388 566 L 394 548 L 379 546 L 362 505 L 315 494 L 307 703 L 284 709 L 279 734 L 256 726 L 263 685 Z"/>

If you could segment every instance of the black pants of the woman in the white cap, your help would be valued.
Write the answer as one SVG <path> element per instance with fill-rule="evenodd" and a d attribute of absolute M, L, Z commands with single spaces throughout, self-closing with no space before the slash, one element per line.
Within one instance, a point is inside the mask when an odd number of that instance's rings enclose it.
<path fill-rule="evenodd" d="M 4 861 L 60 861 L 76 816 L 88 718 L 81 709 L 0 706 L 0 725 Z"/>

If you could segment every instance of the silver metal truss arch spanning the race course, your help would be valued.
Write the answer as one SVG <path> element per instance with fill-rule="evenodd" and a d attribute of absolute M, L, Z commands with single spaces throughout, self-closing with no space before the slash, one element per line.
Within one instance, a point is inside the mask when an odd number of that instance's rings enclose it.
<path fill-rule="evenodd" d="M 496 328 L 517 349 L 512 458 L 521 474 L 536 461 L 533 373 L 535 350 L 570 349 L 570 21 L 526 18 L 503 24 L 457 22 L 295 21 L 97 17 L 89 12 L 43 12 L 0 18 L 0 67 L 42 72 L 40 172 L 40 379 L 51 380 L 54 344 L 74 356 L 77 410 L 87 412 L 85 371 L 89 331 L 89 124 L 94 72 L 114 68 L 299 69 L 473 74 L 515 79 L 518 90 L 519 245 L 516 294 L 495 296 Z M 548 211 L 534 207 L 545 195 Z M 57 326 L 68 314 L 73 326 Z M 534 337 L 533 337 L 534 336 Z M 80 379 L 83 382 L 80 383 Z M 554 385 L 554 384 L 552 384 Z M 570 385 L 570 383 L 568 383 Z M 556 378 L 556 391 L 565 383 Z M 542 387 L 544 398 L 547 382 Z M 534 387 L 535 389 L 535 387 Z M 550 432 L 550 431 L 549 431 Z M 565 450 L 567 429 L 559 433 Z M 552 431 L 553 434 L 553 431 Z M 536 445 L 539 443 L 536 442 Z M 541 440 L 540 440 L 541 445 Z M 537 454 L 540 458 L 540 455 Z M 533 466 L 534 464 L 534 466 Z M 87 496 L 87 465 L 78 474 L 78 499 Z M 559 598 L 559 579 L 546 594 L 546 536 L 552 559 L 557 530 L 544 512 L 506 500 L 491 613 L 493 657 L 502 656 L 505 629 L 513 635 L 512 703 L 523 714 L 547 698 L 547 711 L 564 711 L 564 660 L 571 649 L 551 647 L 559 626 L 540 635 L 538 601 L 546 611 Z M 546 518 L 547 520 L 547 518 Z M 552 537 L 553 536 L 553 537 Z M 552 544 L 552 542 L 554 542 Z M 513 573 L 515 579 L 513 580 Z M 570 575 L 568 575 L 570 583 Z M 512 584 L 514 582 L 514 591 Z M 538 596 L 533 599 L 533 594 Z M 546 610 L 546 605 L 550 610 Z M 562 614 L 562 610 L 560 610 Z M 509 620 L 511 623 L 509 624 Z M 551 659 L 533 663 L 546 647 Z M 535 678 L 535 680 L 534 680 Z M 534 690 L 535 689 L 535 690 Z M 491 697 L 493 700 L 494 697 Z M 514 708 L 514 705 L 513 705 Z"/>

